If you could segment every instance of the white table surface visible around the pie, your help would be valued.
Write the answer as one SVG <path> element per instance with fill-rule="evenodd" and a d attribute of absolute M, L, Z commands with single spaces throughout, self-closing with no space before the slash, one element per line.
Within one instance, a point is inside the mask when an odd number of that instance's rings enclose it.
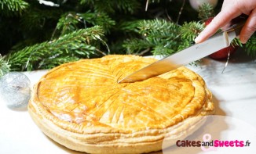
<path fill-rule="evenodd" d="M 205 58 L 188 66 L 206 81 L 214 95 L 216 114 L 231 116 L 256 127 L 256 59 L 237 51 L 224 61 Z M 225 68 L 224 73 L 221 73 Z M 25 72 L 35 84 L 46 70 Z M 9 109 L 0 97 L 0 153 L 79 153 L 52 141 L 38 129 L 27 109 Z M 256 144 L 256 143 L 254 143 Z"/>

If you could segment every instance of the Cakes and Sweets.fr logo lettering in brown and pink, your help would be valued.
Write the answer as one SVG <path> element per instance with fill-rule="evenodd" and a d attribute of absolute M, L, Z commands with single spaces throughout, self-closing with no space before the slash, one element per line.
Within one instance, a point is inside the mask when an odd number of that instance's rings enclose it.
<path fill-rule="evenodd" d="M 189 140 L 177 140 L 176 146 L 177 147 L 201 147 L 203 151 L 214 151 L 218 148 L 225 148 L 225 147 L 234 147 L 234 148 L 242 148 L 248 147 L 251 145 L 249 140 L 211 140 L 210 134 L 203 135 L 203 141 L 189 141 Z"/>

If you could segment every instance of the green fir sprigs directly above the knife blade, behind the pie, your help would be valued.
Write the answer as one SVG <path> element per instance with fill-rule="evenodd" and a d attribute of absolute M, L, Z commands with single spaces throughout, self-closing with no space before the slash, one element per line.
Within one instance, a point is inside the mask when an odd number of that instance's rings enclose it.
<path fill-rule="evenodd" d="M 141 39 L 129 39 L 124 42 L 124 47 L 129 53 L 140 53 L 142 49 L 150 48 L 153 55 L 169 56 L 191 46 L 203 28 L 199 22 L 185 22 L 180 26 L 166 20 L 143 20 L 136 30 Z"/>

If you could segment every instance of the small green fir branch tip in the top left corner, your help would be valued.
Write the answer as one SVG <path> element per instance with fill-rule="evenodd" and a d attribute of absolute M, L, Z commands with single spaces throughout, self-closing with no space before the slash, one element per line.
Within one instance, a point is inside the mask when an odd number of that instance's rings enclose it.
<path fill-rule="evenodd" d="M 29 5 L 23 0 L 1 0 L 0 6 L 0 12 L 4 16 L 13 16 L 21 15 Z"/>

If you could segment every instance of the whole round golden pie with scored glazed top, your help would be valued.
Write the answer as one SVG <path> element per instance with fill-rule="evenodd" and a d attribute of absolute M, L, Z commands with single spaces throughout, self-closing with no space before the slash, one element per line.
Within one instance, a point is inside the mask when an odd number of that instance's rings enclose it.
<path fill-rule="evenodd" d="M 195 131 L 199 124 L 192 117 L 214 113 L 214 105 L 203 79 L 185 67 L 118 84 L 153 62 L 141 56 L 104 56 L 57 66 L 35 84 L 28 111 L 49 138 L 68 149 L 159 151 L 164 138 L 174 142 Z"/>

